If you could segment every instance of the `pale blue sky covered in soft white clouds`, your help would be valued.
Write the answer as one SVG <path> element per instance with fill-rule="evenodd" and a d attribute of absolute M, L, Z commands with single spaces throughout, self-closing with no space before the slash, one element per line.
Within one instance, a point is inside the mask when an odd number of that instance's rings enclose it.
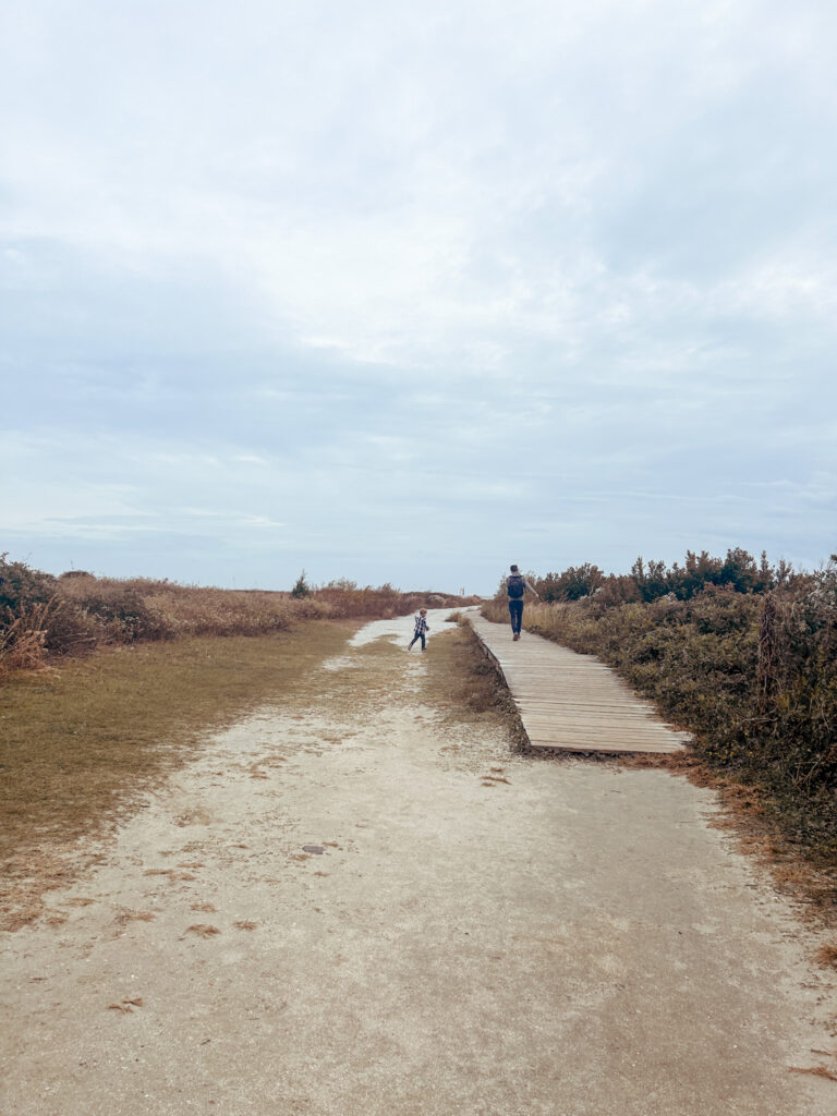
<path fill-rule="evenodd" d="M 830 0 L 4 0 L 0 551 L 837 549 Z"/>

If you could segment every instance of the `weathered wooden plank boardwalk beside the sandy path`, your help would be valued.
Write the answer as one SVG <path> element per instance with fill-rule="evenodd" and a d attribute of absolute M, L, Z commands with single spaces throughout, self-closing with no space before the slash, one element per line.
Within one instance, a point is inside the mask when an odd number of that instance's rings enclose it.
<path fill-rule="evenodd" d="M 689 737 L 665 724 L 648 702 L 593 655 L 468 614 L 514 699 L 532 748 L 568 752 L 677 752 Z"/>

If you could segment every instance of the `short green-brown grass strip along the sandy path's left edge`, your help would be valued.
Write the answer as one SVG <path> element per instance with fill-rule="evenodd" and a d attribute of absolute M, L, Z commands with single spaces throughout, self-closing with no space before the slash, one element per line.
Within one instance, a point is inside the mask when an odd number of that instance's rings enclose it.
<path fill-rule="evenodd" d="M 201 733 L 290 699 L 337 654 L 350 620 L 272 636 L 192 636 L 69 658 L 0 690 L 0 926 L 41 910 L 66 883 L 67 852 L 113 827 Z"/>

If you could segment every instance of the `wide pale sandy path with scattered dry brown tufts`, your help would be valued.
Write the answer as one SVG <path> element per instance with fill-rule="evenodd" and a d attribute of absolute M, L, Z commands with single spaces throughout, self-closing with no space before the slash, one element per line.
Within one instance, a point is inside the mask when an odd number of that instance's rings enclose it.
<path fill-rule="evenodd" d="M 437 619 L 208 739 L 3 935 L 3 1116 L 834 1112 L 791 1072 L 837 1066 L 834 981 L 713 796 L 516 756 Z"/>

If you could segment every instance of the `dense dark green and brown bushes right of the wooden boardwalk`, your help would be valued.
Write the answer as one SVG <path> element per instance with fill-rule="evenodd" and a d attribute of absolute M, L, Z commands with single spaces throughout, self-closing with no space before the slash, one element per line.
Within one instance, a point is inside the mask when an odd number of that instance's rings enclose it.
<path fill-rule="evenodd" d="M 616 603 L 606 580 L 576 602 L 527 605 L 526 627 L 618 670 L 694 734 L 708 762 L 761 787 L 786 830 L 833 862 L 837 557 L 792 577 L 740 550 L 684 569 L 703 578 L 699 588 L 639 561 L 641 600 Z M 508 618 L 498 599 L 483 612 Z"/>

